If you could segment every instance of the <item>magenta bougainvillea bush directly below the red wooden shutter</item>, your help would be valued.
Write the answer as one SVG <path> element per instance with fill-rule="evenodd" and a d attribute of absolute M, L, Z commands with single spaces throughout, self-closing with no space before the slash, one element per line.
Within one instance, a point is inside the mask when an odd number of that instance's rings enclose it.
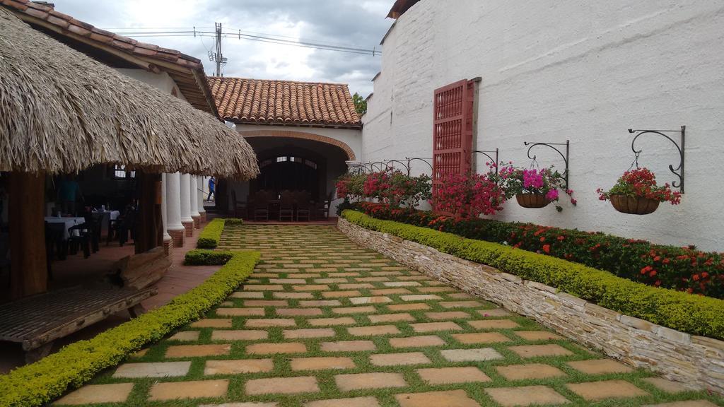
<path fill-rule="evenodd" d="M 492 174 L 449 174 L 435 188 L 430 204 L 436 211 L 479 217 L 502 211 L 510 198 Z"/>

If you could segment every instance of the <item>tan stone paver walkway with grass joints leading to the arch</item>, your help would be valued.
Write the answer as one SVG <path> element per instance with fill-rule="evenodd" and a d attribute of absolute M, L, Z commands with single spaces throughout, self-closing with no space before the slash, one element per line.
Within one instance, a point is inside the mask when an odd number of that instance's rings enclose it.
<path fill-rule="evenodd" d="M 58 404 L 722 406 L 582 348 L 334 227 L 227 227 L 261 264 L 205 319 Z"/>

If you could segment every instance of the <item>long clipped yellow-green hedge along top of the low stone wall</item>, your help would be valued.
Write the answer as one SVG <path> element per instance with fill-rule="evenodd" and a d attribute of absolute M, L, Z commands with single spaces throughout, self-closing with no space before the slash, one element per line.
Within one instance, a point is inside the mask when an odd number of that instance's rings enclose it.
<path fill-rule="evenodd" d="M 541 282 L 607 309 L 674 330 L 724 339 L 724 301 L 616 277 L 583 264 L 482 240 L 461 238 L 426 227 L 374 219 L 358 211 L 342 217 L 355 225 L 411 240 L 443 253 Z"/>

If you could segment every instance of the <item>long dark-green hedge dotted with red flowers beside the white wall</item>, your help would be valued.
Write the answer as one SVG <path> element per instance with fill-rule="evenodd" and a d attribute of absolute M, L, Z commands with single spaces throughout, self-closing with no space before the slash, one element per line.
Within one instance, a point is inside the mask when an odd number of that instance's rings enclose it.
<path fill-rule="evenodd" d="M 724 298 L 724 253 L 698 251 L 694 246 L 654 245 L 646 240 L 531 223 L 455 219 L 430 211 L 393 210 L 381 204 L 360 203 L 356 208 L 378 219 L 543 253 L 654 287 Z"/>

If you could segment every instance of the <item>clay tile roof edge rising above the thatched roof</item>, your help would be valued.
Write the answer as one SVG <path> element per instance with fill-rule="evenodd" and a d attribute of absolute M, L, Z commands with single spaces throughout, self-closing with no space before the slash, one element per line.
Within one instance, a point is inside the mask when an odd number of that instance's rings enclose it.
<path fill-rule="evenodd" d="M 211 101 L 211 92 L 206 83 L 203 64 L 198 58 L 183 54 L 175 49 L 162 48 L 141 43 L 132 38 L 101 30 L 72 16 L 56 12 L 53 7 L 33 3 L 29 0 L 0 0 L 0 6 L 14 12 L 21 20 L 32 25 L 49 28 L 58 35 L 87 43 L 97 49 L 121 51 L 134 61 L 145 63 L 147 70 L 165 70 L 177 83 L 186 100 L 205 112 L 216 115 Z M 154 71 L 155 72 L 155 71 Z"/>

